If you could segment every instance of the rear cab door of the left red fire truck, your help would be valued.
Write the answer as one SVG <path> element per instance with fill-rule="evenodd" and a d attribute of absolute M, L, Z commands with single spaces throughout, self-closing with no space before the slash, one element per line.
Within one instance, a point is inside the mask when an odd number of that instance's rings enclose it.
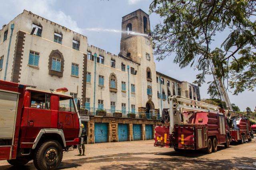
<path fill-rule="evenodd" d="M 48 129 L 50 127 L 50 94 L 31 91 L 26 138 L 34 140 L 41 129 Z"/>

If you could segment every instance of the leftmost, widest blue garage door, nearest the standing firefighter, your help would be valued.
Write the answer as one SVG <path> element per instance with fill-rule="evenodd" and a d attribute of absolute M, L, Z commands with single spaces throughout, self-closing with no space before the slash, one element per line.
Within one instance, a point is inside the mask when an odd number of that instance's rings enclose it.
<path fill-rule="evenodd" d="M 94 124 L 94 139 L 95 143 L 108 142 L 108 128 L 107 123 Z"/>

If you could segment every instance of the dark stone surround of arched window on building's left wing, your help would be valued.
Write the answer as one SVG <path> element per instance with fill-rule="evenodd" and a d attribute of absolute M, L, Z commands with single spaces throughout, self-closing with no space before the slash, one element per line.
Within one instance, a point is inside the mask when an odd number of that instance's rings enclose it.
<path fill-rule="evenodd" d="M 61 60 L 60 63 L 60 71 L 52 70 L 52 57 L 55 57 L 57 59 Z M 64 72 L 64 57 L 62 53 L 59 50 L 52 50 L 52 52 L 49 55 L 49 63 L 48 63 L 48 69 L 49 69 L 49 74 L 51 76 L 58 76 L 63 77 L 63 72 Z"/>

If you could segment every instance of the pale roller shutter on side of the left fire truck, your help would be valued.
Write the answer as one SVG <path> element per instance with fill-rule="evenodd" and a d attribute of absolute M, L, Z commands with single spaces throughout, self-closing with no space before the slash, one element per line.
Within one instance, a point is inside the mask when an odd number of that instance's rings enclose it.
<path fill-rule="evenodd" d="M 18 105 L 17 93 L 0 91 L 0 139 L 12 139 Z"/>

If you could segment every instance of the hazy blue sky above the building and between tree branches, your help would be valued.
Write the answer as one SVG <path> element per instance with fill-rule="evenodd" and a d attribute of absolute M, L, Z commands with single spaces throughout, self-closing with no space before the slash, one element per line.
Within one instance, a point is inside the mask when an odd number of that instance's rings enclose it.
<path fill-rule="evenodd" d="M 89 45 L 118 55 L 120 52 L 122 17 L 138 9 L 149 14 L 149 6 L 153 0 L 8 0 L 1 4 L 0 25 L 8 24 L 23 10 L 58 23 L 68 29 L 85 35 Z M 11 9 L 11 10 L 10 10 Z M 150 27 L 153 29 L 162 18 L 151 14 Z M 223 42 L 223 36 L 217 37 L 214 43 Z M 213 43 L 213 44 L 214 44 Z M 156 61 L 156 70 L 180 81 L 194 82 L 199 72 L 194 67 L 180 69 L 173 63 L 175 54 L 166 57 L 163 61 Z M 206 82 L 212 81 L 212 76 L 206 76 Z M 227 85 L 226 85 L 227 86 Z M 208 84 L 200 87 L 200 96 L 210 98 L 207 94 Z M 236 104 L 241 111 L 256 106 L 255 92 L 245 90 L 238 96 L 232 95 L 234 89 L 229 88 L 230 102 Z"/>

